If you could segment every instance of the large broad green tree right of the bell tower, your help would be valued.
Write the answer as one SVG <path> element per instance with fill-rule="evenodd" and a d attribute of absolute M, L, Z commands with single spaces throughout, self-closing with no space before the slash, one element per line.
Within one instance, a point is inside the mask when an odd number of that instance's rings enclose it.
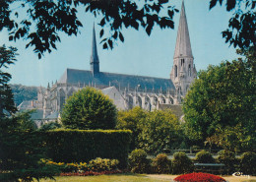
<path fill-rule="evenodd" d="M 245 60 L 210 65 L 199 73 L 183 103 L 190 139 L 205 141 L 221 128 L 229 133 L 242 130 L 248 135 L 249 143 L 255 141 L 255 63 L 255 57 L 248 56 Z"/>

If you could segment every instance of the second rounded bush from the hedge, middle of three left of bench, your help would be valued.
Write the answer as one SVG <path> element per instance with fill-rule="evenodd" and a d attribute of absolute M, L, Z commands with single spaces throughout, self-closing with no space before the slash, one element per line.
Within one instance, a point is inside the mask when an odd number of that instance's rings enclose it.
<path fill-rule="evenodd" d="M 165 153 L 160 153 L 153 160 L 154 172 L 159 174 L 168 174 L 171 172 L 171 160 Z"/>

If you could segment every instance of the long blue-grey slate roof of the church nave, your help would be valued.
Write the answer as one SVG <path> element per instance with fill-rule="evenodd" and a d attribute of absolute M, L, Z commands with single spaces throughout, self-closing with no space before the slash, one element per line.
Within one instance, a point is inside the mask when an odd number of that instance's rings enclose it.
<path fill-rule="evenodd" d="M 67 69 L 62 75 L 59 84 L 81 84 L 89 85 L 92 87 L 104 89 L 110 86 L 115 88 L 124 89 L 127 88 L 130 91 L 145 90 L 147 91 L 171 91 L 174 90 L 174 86 L 170 79 L 160 79 L 154 77 L 136 76 L 136 75 L 124 75 L 115 73 L 99 72 L 96 76 L 93 76 L 91 71 Z"/>

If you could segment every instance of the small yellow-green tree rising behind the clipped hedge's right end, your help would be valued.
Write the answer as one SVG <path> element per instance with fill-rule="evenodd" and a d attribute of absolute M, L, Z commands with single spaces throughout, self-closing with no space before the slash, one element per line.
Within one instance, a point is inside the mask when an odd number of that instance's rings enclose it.
<path fill-rule="evenodd" d="M 139 134 L 142 132 L 140 123 L 144 122 L 148 114 L 146 110 L 139 106 L 130 110 L 118 111 L 116 128 L 133 132 L 130 150 L 139 149 Z"/>

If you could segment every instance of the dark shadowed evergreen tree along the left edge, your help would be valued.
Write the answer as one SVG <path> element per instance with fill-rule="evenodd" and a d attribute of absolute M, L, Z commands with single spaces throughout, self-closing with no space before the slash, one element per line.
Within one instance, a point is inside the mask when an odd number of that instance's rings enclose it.
<path fill-rule="evenodd" d="M 0 47 L 0 68 L 16 61 L 16 48 Z M 53 178 L 58 170 L 40 162 L 42 140 L 34 131 L 30 112 L 14 114 L 16 107 L 8 85 L 11 75 L 0 70 L 0 181 L 33 181 Z M 3 110 L 9 112 L 7 117 Z"/>

